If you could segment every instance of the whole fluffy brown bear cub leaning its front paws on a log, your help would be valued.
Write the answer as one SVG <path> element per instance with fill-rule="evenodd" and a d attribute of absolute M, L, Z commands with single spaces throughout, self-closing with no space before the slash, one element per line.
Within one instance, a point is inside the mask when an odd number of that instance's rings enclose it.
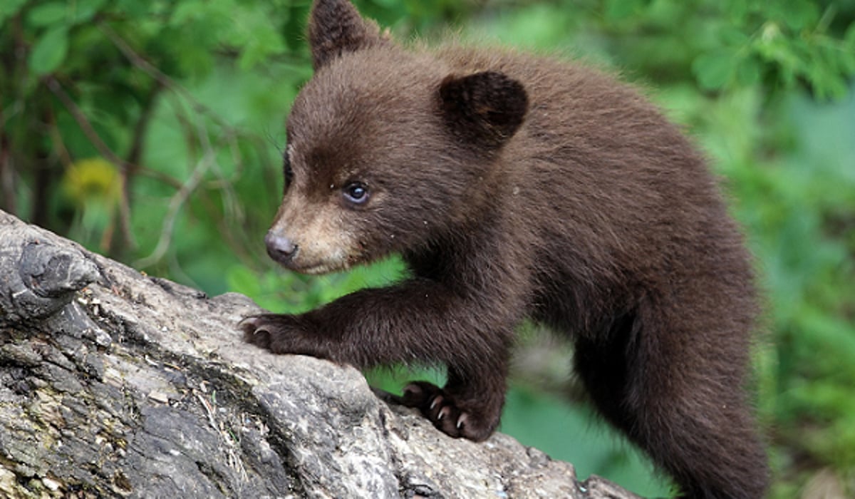
<path fill-rule="evenodd" d="M 680 131 L 597 71 L 405 49 L 346 0 L 315 1 L 309 38 L 268 253 L 310 274 L 398 253 L 410 276 L 247 318 L 246 340 L 362 368 L 446 365 L 444 387 L 412 383 L 403 400 L 481 441 L 532 318 L 572 339 L 599 413 L 683 496 L 763 496 L 750 258 Z"/>

